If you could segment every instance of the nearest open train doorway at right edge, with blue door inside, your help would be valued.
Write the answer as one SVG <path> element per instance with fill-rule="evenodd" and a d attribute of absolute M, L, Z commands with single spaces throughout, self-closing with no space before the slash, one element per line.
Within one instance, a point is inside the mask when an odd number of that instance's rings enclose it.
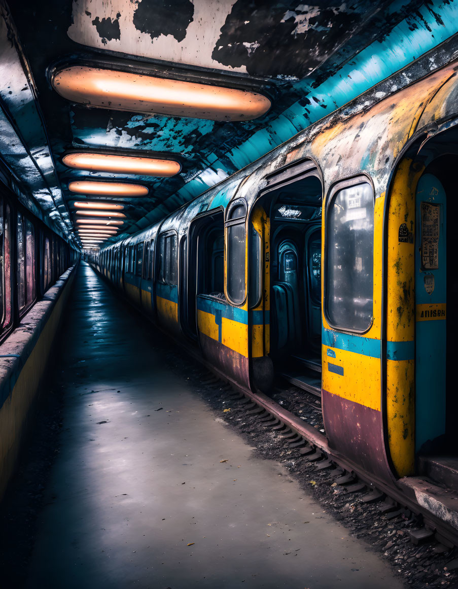
<path fill-rule="evenodd" d="M 420 156 L 427 158 L 416 191 L 416 450 L 420 474 L 458 488 L 458 395 L 456 339 L 458 276 L 453 252 L 458 203 L 454 198 L 458 166 L 457 132 L 429 141 Z M 426 196 L 425 196 L 426 195 Z M 432 198 L 427 196 L 433 195 Z M 427 201 L 427 203 L 425 203 Z M 425 257 L 425 206 L 439 209 L 437 250 Z M 430 223 L 429 223 L 430 224 Z M 420 256 L 421 254 L 421 256 Z M 447 254 L 447 255 L 446 255 Z M 419 305 L 438 307 L 446 320 L 419 321 Z M 434 341 L 434 346 L 430 342 Z"/>

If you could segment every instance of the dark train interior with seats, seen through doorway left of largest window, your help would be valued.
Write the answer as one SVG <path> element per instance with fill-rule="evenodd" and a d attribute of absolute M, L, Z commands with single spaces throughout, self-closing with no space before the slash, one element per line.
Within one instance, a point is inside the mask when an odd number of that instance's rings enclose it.
<path fill-rule="evenodd" d="M 271 357 L 288 382 L 321 395 L 321 181 L 268 193 Z"/>

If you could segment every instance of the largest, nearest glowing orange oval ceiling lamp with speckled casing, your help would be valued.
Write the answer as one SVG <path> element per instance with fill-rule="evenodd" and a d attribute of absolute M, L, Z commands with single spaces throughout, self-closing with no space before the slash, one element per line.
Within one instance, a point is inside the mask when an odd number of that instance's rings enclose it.
<path fill-rule="evenodd" d="M 56 72 L 52 85 L 67 100 L 93 107 L 213 121 L 250 121 L 270 108 L 256 92 L 85 65 Z"/>

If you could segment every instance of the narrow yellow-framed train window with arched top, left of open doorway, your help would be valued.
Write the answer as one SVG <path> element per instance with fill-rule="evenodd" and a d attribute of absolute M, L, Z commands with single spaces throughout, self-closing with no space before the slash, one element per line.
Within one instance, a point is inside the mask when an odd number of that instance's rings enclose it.
<path fill-rule="evenodd" d="M 245 300 L 245 216 L 244 201 L 236 201 L 228 210 L 227 227 L 227 294 L 233 303 Z"/>

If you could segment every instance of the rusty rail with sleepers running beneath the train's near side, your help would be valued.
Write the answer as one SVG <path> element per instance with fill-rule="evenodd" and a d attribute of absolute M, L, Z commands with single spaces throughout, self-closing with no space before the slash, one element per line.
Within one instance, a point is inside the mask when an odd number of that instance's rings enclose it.
<path fill-rule="evenodd" d="M 214 374 L 213 369 L 211 373 Z M 409 531 L 413 544 L 436 541 L 447 550 L 458 547 L 458 530 L 407 497 L 403 489 L 381 481 L 330 448 L 324 432 L 321 402 L 312 393 L 291 386 L 290 383 L 282 386 L 277 382 L 273 395 L 267 396 L 240 389 L 218 374 L 203 384 L 218 382 L 224 383 L 228 399 L 238 401 L 247 415 L 255 416 L 266 429 L 276 434 L 279 442 L 296 449 L 318 471 L 329 471 L 336 485 L 344 492 L 363 494 L 361 499 L 367 504 L 377 502 L 380 514 L 389 520 L 402 515 L 409 521 L 416 521 L 419 529 Z M 300 409 L 301 405 L 311 411 L 304 412 L 304 409 Z M 317 413 L 321 419 L 317 419 Z M 314 423 L 308 421 L 310 415 Z"/>

